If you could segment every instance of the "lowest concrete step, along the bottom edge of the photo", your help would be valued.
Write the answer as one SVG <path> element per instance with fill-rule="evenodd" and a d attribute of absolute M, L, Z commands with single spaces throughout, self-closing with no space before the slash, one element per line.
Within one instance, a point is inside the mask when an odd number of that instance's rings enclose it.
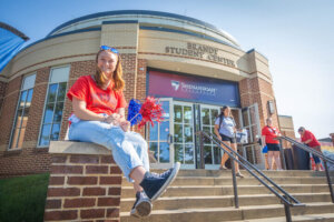
<path fill-rule="evenodd" d="M 334 212 L 333 203 L 308 203 L 306 206 L 292 208 L 293 215 L 324 214 Z M 284 216 L 282 204 L 252 205 L 235 208 L 213 208 L 213 209 L 180 209 L 180 210 L 158 210 L 141 221 L 147 222 L 219 222 L 240 221 L 250 219 L 278 218 Z M 129 212 L 121 212 L 121 222 L 138 221 L 129 215 Z"/>

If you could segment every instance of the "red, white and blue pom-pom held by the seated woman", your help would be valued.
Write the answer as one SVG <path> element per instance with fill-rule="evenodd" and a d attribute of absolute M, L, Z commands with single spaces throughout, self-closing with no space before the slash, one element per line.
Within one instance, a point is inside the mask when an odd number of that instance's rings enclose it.
<path fill-rule="evenodd" d="M 131 125 L 137 124 L 138 122 L 139 129 L 147 122 L 150 122 L 150 124 L 154 125 L 154 121 L 160 122 L 164 120 L 163 114 L 164 109 L 161 104 L 159 104 L 158 99 L 147 97 L 143 104 L 140 104 L 139 100 L 130 100 L 128 121 L 130 121 Z"/>

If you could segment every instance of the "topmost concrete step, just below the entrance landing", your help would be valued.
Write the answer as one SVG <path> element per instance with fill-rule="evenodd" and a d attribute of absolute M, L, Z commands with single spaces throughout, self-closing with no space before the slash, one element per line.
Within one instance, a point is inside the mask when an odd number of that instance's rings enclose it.
<path fill-rule="evenodd" d="M 165 170 L 153 169 L 153 172 L 161 173 Z M 240 170 L 246 176 L 249 173 L 246 170 Z M 267 176 L 326 176 L 325 171 L 304 171 L 304 170 L 283 170 L 283 171 L 262 171 Z M 179 176 L 230 176 L 230 170 L 204 170 L 204 169 L 191 169 L 191 170 L 180 170 Z M 334 176 L 334 171 L 330 172 L 331 176 Z M 252 176 L 252 175 L 249 175 Z"/>

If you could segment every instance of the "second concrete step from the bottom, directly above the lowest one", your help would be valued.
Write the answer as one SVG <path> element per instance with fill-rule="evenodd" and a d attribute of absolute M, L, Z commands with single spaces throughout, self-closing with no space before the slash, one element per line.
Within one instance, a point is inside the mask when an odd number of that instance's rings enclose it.
<path fill-rule="evenodd" d="M 330 193 L 293 193 L 302 203 L 331 202 Z M 120 211 L 131 210 L 135 198 L 121 199 Z M 239 195 L 239 205 L 267 205 L 279 204 L 279 199 L 274 194 Z M 178 210 L 178 209 L 205 209 L 205 208 L 229 208 L 234 206 L 234 195 L 212 196 L 175 196 L 160 198 L 154 203 L 154 210 Z"/>

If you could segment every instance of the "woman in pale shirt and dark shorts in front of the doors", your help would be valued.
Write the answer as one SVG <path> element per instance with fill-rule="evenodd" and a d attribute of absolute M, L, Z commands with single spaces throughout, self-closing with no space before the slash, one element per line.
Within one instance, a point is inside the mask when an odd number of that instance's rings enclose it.
<path fill-rule="evenodd" d="M 224 105 L 222 109 L 220 114 L 215 121 L 215 134 L 219 140 L 222 140 L 225 144 L 230 147 L 234 151 L 237 152 L 237 144 L 236 144 L 236 124 L 234 118 L 230 112 L 230 108 Z M 220 168 L 219 170 L 226 170 L 225 167 L 226 161 L 228 160 L 229 155 L 225 152 L 222 157 Z M 236 175 L 239 178 L 244 178 L 244 175 L 239 171 L 239 164 L 235 162 L 235 170 Z"/>

